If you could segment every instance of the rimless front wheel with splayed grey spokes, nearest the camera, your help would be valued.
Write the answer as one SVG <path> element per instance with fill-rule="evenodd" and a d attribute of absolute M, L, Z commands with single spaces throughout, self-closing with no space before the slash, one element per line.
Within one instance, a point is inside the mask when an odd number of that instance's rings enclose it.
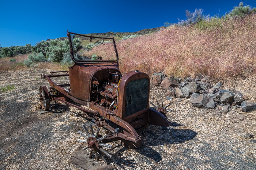
<path fill-rule="evenodd" d="M 96 161 L 99 161 L 99 155 L 101 156 L 102 160 L 104 162 L 106 162 L 106 159 L 104 158 L 103 154 L 108 156 L 109 158 L 112 157 L 112 155 L 110 155 L 105 149 L 103 149 L 102 147 L 109 147 L 111 148 L 112 145 L 106 144 L 106 143 L 99 143 L 101 142 L 103 139 L 107 138 L 108 135 L 103 136 L 101 138 L 98 138 L 99 135 L 99 128 L 96 131 L 96 134 L 94 134 L 93 132 L 93 126 L 92 124 L 90 124 L 90 131 L 91 133 L 89 133 L 89 131 L 87 130 L 85 124 L 82 125 L 83 129 L 86 131 L 86 134 L 83 134 L 82 132 L 78 131 L 78 133 L 84 137 L 86 140 L 82 140 L 82 139 L 78 139 L 78 142 L 82 142 L 82 143 L 87 143 L 87 146 L 84 147 L 82 150 L 86 150 L 86 149 L 90 149 L 90 153 L 89 153 L 89 158 L 91 158 L 92 153 L 94 152 L 95 154 L 95 158 Z"/>

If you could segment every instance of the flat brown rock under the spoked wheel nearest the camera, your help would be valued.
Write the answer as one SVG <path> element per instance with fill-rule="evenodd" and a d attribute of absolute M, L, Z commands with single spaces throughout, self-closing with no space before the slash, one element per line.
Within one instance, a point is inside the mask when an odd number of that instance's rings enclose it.
<path fill-rule="evenodd" d="M 86 150 L 82 150 L 82 147 L 79 146 L 71 155 L 70 162 L 76 167 L 85 169 L 85 170 L 113 170 L 115 169 L 114 165 L 107 163 L 97 163 L 93 159 L 88 158 Z"/>

